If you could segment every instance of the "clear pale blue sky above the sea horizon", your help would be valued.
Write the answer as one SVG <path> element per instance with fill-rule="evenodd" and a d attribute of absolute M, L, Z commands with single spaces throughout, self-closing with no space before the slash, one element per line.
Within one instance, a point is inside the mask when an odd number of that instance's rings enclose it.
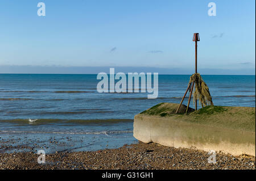
<path fill-rule="evenodd" d="M 46 16 L 38 16 L 39 2 Z M 216 3 L 216 16 L 208 15 L 209 2 Z M 1 0 L 0 73 L 30 73 L 31 67 L 42 73 L 55 67 L 193 71 L 195 32 L 199 73 L 255 74 L 254 0 Z"/>

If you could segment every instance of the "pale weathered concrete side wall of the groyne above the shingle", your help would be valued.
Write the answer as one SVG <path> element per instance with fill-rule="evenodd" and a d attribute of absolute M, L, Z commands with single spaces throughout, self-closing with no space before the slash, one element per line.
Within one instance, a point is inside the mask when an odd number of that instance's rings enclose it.
<path fill-rule="evenodd" d="M 255 157 L 255 132 L 182 121 L 180 116 L 183 115 L 161 117 L 138 114 L 134 117 L 134 137 L 142 142 L 156 142 L 175 148 L 215 150 Z"/>

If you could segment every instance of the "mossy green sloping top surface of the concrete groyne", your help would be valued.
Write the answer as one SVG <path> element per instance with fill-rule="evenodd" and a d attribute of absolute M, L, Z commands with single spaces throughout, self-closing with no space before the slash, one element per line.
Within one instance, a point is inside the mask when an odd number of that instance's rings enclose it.
<path fill-rule="evenodd" d="M 156 106 L 143 111 L 142 115 L 159 116 L 168 119 L 168 117 L 209 125 L 212 127 L 237 129 L 240 131 L 255 132 L 255 108 L 254 107 L 228 107 L 228 106 L 207 106 L 200 110 L 188 109 L 185 115 L 186 106 L 182 105 L 180 111 L 175 114 L 179 104 L 160 103 Z"/>

